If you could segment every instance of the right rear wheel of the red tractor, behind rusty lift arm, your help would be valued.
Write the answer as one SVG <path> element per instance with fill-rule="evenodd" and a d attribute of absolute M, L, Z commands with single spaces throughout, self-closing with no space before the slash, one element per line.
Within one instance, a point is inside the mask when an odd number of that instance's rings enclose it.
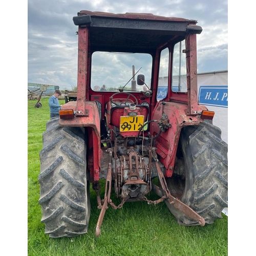
<path fill-rule="evenodd" d="M 221 139 L 221 130 L 204 121 L 183 128 L 172 178 L 166 179 L 170 194 L 214 223 L 222 218 L 227 207 L 227 143 Z M 165 200 L 170 212 L 181 225 L 199 225 L 188 219 Z"/>

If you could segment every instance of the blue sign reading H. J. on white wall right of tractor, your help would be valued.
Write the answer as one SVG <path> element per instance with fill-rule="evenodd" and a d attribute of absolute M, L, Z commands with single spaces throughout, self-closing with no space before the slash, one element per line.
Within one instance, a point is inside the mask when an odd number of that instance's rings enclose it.
<path fill-rule="evenodd" d="M 199 104 L 227 108 L 227 86 L 200 86 Z"/>

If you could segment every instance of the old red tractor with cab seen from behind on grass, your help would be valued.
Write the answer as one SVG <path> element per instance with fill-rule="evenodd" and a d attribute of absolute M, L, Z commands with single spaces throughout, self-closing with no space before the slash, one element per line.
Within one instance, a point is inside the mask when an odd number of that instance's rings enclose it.
<path fill-rule="evenodd" d="M 91 183 L 101 209 L 96 236 L 106 209 L 130 201 L 164 201 L 181 225 L 222 218 L 227 144 L 212 125 L 215 113 L 198 103 L 196 20 L 80 11 L 73 22 L 77 98 L 42 136 L 45 232 L 59 238 L 88 231 Z"/>

